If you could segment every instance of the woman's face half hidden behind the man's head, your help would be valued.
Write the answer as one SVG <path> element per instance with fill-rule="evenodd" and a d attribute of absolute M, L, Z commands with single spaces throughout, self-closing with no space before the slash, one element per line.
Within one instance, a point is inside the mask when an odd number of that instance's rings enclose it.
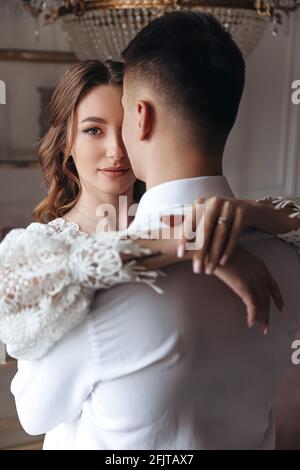
<path fill-rule="evenodd" d="M 89 194 L 124 194 L 135 182 L 122 140 L 121 98 L 122 87 L 99 85 L 77 106 L 71 155 Z"/>

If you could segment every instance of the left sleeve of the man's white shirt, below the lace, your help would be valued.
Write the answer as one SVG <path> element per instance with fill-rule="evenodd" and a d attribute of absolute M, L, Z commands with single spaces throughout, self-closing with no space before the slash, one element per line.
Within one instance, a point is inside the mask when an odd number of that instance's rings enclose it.
<path fill-rule="evenodd" d="M 11 383 L 20 423 L 31 435 L 74 421 L 94 387 L 86 322 L 42 359 L 19 361 Z"/>

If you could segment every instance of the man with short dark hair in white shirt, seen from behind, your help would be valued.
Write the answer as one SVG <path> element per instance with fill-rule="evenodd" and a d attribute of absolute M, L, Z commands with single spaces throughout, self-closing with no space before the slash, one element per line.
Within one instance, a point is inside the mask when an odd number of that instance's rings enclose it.
<path fill-rule="evenodd" d="M 229 34 L 211 16 L 172 13 L 142 30 L 124 59 L 123 137 L 147 186 L 133 232 L 162 205 L 232 197 L 222 154 L 245 67 Z M 49 381 L 49 357 L 56 364 L 43 397 L 29 397 L 34 432 L 47 422 L 45 449 L 66 436 L 77 449 L 274 448 L 272 406 L 299 328 L 300 267 L 277 239 L 245 246 L 285 300 L 285 314 L 272 307 L 268 336 L 248 329 L 240 300 L 189 263 L 166 269 L 161 296 L 136 284 L 101 292 L 87 321 L 42 359 L 44 375 L 33 364 L 31 390 Z"/>

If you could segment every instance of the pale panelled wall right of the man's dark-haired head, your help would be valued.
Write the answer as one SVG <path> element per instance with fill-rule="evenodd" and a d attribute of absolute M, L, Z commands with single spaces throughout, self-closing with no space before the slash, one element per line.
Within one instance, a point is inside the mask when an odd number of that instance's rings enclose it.
<path fill-rule="evenodd" d="M 236 194 L 300 195 L 300 105 L 291 84 L 300 79 L 300 15 L 290 34 L 269 28 L 247 64 L 247 84 L 238 121 L 225 154 L 225 172 Z"/>

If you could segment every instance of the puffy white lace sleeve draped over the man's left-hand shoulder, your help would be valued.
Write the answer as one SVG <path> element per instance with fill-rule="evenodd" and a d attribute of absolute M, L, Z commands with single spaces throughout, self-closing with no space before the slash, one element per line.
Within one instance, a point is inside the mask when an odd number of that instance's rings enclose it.
<path fill-rule="evenodd" d="M 72 224 L 12 230 L 0 244 L 0 340 L 8 353 L 41 358 L 84 320 L 96 289 L 124 282 L 156 288 L 157 272 L 120 257 L 149 252 L 116 235 L 79 236 Z"/>

